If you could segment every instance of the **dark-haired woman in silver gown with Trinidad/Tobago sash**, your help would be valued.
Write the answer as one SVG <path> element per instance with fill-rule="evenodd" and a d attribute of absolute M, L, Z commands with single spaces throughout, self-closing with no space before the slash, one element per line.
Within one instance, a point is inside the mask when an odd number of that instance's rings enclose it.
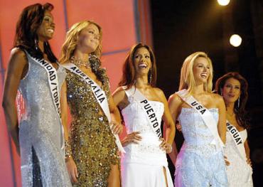
<path fill-rule="evenodd" d="M 55 30 L 52 9 L 52 4 L 23 9 L 4 85 L 6 124 L 21 154 L 22 186 L 71 186 L 60 122 L 65 70 L 48 44 Z M 18 89 L 26 105 L 19 127 L 15 102 Z"/>

